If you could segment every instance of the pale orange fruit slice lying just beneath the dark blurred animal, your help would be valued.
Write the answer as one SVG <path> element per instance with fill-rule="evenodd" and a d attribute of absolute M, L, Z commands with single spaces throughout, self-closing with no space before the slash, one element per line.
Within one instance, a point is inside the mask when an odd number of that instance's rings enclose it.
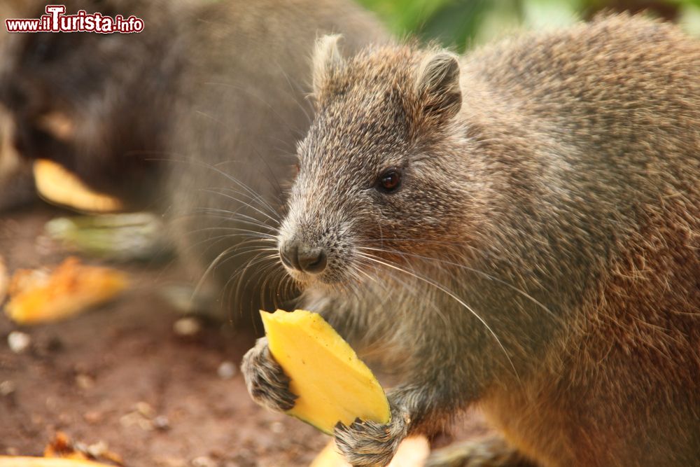
<path fill-rule="evenodd" d="M 34 162 L 34 183 L 45 200 L 78 211 L 111 212 L 123 209 L 116 197 L 96 193 L 78 177 L 52 160 Z"/>

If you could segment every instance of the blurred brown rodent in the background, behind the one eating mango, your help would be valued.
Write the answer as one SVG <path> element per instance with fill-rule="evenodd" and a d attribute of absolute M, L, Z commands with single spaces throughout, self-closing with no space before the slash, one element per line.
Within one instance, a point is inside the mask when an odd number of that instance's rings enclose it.
<path fill-rule="evenodd" d="M 340 32 L 350 52 L 384 40 L 379 22 L 349 0 L 61 3 L 135 15 L 144 31 L 4 34 L 0 103 L 19 153 L 166 214 L 193 282 L 216 260 L 209 288 L 228 316 L 288 298 L 263 280 L 265 263 L 243 266 L 278 216 L 311 122 L 313 43 Z M 3 13 L 38 18 L 45 4 Z"/>

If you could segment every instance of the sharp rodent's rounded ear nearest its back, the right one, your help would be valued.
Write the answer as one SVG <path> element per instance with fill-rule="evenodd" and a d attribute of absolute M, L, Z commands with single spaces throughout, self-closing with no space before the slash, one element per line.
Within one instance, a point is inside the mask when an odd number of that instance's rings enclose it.
<path fill-rule="evenodd" d="M 456 116 L 462 106 L 457 56 L 440 52 L 426 57 L 418 69 L 416 94 L 424 118 L 444 123 Z"/>

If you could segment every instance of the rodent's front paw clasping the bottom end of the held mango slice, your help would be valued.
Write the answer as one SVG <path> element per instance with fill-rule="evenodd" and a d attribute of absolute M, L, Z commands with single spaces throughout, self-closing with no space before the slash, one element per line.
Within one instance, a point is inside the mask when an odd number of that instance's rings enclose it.
<path fill-rule="evenodd" d="M 386 466 L 408 431 L 409 417 L 400 410 L 391 411 L 391 421 L 379 424 L 356 419 L 349 426 L 335 425 L 335 444 L 353 467 Z"/>

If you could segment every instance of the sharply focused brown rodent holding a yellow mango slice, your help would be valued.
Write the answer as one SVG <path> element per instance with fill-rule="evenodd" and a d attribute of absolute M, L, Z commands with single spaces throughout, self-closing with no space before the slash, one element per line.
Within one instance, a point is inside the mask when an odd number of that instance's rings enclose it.
<path fill-rule="evenodd" d="M 336 40 L 278 239 L 302 306 L 400 370 L 346 459 L 478 404 L 507 443 L 449 465 L 698 465 L 700 43 L 624 15 L 459 59 Z M 293 405 L 264 339 L 243 368 Z"/>

